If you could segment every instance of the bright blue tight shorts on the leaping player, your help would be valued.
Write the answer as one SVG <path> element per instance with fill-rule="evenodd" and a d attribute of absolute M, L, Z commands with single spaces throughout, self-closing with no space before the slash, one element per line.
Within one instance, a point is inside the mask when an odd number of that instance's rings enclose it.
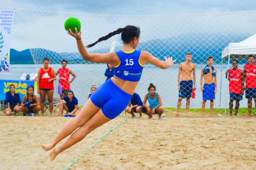
<path fill-rule="evenodd" d="M 91 95 L 91 102 L 102 109 L 103 114 L 114 119 L 128 106 L 132 95 L 116 86 L 111 79 L 105 81 Z"/>

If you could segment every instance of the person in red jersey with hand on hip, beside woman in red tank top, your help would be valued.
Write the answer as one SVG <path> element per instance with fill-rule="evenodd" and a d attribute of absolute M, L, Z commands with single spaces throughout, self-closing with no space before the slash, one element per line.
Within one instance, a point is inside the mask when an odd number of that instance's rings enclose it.
<path fill-rule="evenodd" d="M 68 91 L 70 91 L 70 83 L 72 83 L 76 75 L 73 73 L 69 68 L 67 68 L 68 61 L 67 60 L 61 60 L 61 66 L 62 68 L 59 68 L 57 70 L 56 76 L 59 74 L 59 83 L 61 84 L 61 98 L 64 98 L 68 95 Z M 72 80 L 69 81 L 69 74 L 73 76 Z"/>

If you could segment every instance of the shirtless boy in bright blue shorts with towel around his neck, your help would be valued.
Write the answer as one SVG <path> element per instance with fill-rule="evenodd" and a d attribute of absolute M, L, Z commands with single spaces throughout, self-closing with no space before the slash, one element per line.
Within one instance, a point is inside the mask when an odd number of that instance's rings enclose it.
<path fill-rule="evenodd" d="M 201 91 L 203 92 L 202 116 L 204 115 L 205 103 L 208 100 L 210 100 L 210 116 L 212 116 L 214 106 L 213 100 L 215 99 L 215 94 L 217 93 L 217 69 L 212 66 L 212 56 L 207 58 L 207 63 L 208 64 L 206 66 L 202 67 L 200 78 Z"/>

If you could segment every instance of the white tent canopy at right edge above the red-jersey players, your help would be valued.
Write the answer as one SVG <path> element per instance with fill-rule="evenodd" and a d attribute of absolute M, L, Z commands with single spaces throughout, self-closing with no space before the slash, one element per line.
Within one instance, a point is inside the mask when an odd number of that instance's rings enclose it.
<path fill-rule="evenodd" d="M 229 43 L 222 51 L 222 59 L 229 56 L 241 58 L 243 55 L 256 55 L 256 34 L 239 43 Z"/>

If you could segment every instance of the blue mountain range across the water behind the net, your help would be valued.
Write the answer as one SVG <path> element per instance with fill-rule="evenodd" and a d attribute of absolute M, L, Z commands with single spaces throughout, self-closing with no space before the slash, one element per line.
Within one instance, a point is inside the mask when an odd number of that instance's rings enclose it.
<path fill-rule="evenodd" d="M 137 47 L 138 50 L 145 50 L 150 52 L 153 56 L 163 60 L 163 57 L 173 57 L 177 61 L 185 61 L 187 52 L 193 55 L 194 63 L 205 62 L 208 56 L 213 56 L 215 63 L 221 62 L 222 50 L 231 42 L 240 42 L 250 34 L 204 34 L 204 33 L 186 33 L 182 35 L 173 36 L 166 39 L 155 39 L 147 42 L 140 43 Z M 115 51 L 120 50 L 122 47 L 117 46 Z M 43 60 L 45 56 L 51 59 L 52 64 L 59 64 L 60 59 L 65 59 L 66 56 L 72 63 L 81 63 L 85 60 L 82 59 L 79 52 L 63 52 L 57 53 L 43 48 L 32 48 L 23 51 L 17 51 L 11 48 L 10 62 L 11 64 L 34 64 L 31 52 L 38 56 L 38 53 L 44 54 L 38 58 Z M 94 53 L 107 53 L 109 48 L 89 51 Z"/>

